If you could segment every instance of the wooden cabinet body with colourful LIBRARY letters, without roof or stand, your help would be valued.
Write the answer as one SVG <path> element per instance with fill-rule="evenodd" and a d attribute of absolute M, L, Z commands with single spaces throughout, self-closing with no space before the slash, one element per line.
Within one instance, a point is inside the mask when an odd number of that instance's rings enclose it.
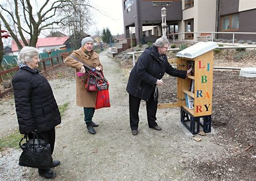
<path fill-rule="evenodd" d="M 194 76 L 188 76 L 181 79 L 181 99 L 182 107 L 190 112 L 194 117 L 211 115 L 212 95 L 213 95 L 213 51 L 206 52 L 193 59 L 181 58 L 181 64 L 186 65 L 188 62 L 194 62 Z M 181 69 L 186 71 L 187 67 Z M 194 93 L 189 91 L 191 81 L 194 82 Z M 179 90 L 178 90 L 179 91 Z M 185 94 L 194 98 L 194 109 L 186 106 Z"/>

